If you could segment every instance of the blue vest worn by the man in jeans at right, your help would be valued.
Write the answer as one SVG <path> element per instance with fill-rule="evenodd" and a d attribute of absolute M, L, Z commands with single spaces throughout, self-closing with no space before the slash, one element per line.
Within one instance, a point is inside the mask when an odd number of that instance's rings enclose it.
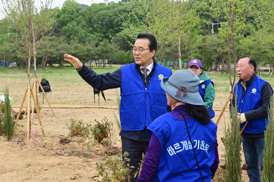
<path fill-rule="evenodd" d="M 237 104 L 238 104 L 238 110 L 239 113 L 245 113 L 251 110 L 258 109 L 259 107 L 262 107 L 262 99 L 261 99 L 261 90 L 264 83 L 267 81 L 259 78 L 256 76 L 254 81 L 249 86 L 248 90 L 246 91 L 246 94 L 243 98 L 243 89 L 242 86 L 235 84 L 234 90 L 236 92 L 236 88 L 238 87 L 237 91 Z M 273 94 L 273 90 L 272 90 Z M 255 120 L 249 120 L 248 124 L 244 128 L 245 133 L 262 133 L 266 129 L 267 124 L 267 116 L 258 118 Z M 240 125 L 241 129 L 244 127 L 245 123 L 242 123 Z"/>

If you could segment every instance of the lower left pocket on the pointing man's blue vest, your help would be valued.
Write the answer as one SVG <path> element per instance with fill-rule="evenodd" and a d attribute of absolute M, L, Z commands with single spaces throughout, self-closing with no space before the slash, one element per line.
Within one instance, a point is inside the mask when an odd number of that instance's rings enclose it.
<path fill-rule="evenodd" d="M 138 104 L 120 106 L 121 125 L 125 129 L 131 129 L 139 125 Z M 124 125 L 124 126 L 123 126 Z"/>

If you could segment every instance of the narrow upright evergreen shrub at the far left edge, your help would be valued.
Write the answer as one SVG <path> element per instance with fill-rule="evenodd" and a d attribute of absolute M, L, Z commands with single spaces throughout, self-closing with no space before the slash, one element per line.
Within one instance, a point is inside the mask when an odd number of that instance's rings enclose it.
<path fill-rule="evenodd" d="M 11 116 L 11 106 L 9 103 L 9 87 L 7 86 L 7 84 L 6 84 L 4 96 L 5 96 L 4 130 L 8 140 L 10 140 L 13 134 L 14 121 Z"/>

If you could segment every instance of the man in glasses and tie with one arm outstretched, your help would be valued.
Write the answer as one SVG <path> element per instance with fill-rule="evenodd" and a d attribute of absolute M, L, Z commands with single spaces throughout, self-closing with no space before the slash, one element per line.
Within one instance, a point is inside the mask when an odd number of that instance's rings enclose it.
<path fill-rule="evenodd" d="M 171 76 L 171 69 L 153 59 L 157 42 L 153 35 L 139 33 L 132 48 L 135 63 L 121 66 L 113 73 L 98 75 L 82 64 L 79 59 L 65 54 L 79 75 L 93 88 L 107 90 L 121 87 L 120 121 L 122 153 L 129 153 L 131 182 L 137 181 L 134 173 L 139 167 L 142 153 L 146 154 L 149 137 L 146 128 L 157 117 L 167 113 L 167 98 L 160 82 Z"/>

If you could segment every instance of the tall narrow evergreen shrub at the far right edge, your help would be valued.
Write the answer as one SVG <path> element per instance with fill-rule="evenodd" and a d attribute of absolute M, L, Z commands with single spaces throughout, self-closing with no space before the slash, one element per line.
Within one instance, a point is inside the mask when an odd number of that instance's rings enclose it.
<path fill-rule="evenodd" d="M 274 181 L 274 106 L 273 96 L 270 99 L 268 108 L 268 123 L 265 131 L 265 150 L 263 151 L 262 182 Z"/>

